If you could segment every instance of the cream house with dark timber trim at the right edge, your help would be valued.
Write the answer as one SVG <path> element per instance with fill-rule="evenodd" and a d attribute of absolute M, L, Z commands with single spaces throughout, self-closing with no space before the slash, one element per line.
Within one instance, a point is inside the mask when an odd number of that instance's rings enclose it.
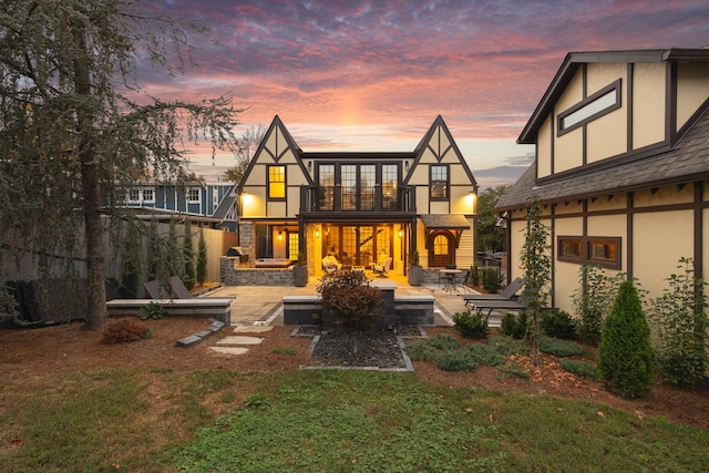
<path fill-rule="evenodd" d="M 521 276 L 525 204 L 544 203 L 553 304 L 572 311 L 583 264 L 627 273 L 650 297 L 680 257 L 709 269 L 709 50 L 574 52 L 517 143 L 536 161 L 496 212 L 507 277 Z"/>

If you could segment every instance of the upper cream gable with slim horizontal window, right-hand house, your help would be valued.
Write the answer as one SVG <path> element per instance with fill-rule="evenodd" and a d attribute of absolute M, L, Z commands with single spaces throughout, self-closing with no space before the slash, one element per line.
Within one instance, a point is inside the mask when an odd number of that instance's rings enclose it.
<path fill-rule="evenodd" d="M 706 107 L 709 50 L 569 53 L 517 142 L 540 183 L 668 150 Z"/>

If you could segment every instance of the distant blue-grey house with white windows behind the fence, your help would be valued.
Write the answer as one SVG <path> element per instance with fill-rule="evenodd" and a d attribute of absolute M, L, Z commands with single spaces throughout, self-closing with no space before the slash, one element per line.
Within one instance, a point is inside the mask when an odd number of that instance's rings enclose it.
<path fill-rule="evenodd" d="M 228 182 L 193 181 L 136 183 L 127 189 L 124 206 L 146 218 L 189 217 L 214 228 L 236 232 L 236 185 Z"/>

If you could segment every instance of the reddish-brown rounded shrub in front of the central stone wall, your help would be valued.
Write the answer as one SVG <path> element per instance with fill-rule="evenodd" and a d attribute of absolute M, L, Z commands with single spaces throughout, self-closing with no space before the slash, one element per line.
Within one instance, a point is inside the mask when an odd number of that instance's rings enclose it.
<path fill-rule="evenodd" d="M 322 310 L 350 335 L 352 352 L 357 353 L 354 333 L 369 329 L 380 316 L 381 290 L 369 285 L 364 273 L 352 270 L 322 279 L 317 290 L 322 296 Z"/>

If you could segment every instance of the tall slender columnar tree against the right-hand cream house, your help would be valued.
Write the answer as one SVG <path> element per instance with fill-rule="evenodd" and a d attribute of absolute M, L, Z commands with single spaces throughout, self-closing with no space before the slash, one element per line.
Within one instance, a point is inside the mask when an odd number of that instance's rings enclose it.
<path fill-rule="evenodd" d="M 542 222 L 542 203 L 533 198 L 527 205 L 527 226 L 524 246 L 520 257 L 524 267 L 524 291 L 522 300 L 530 320 L 530 341 L 532 342 L 532 363 L 536 366 L 540 354 L 540 319 L 547 306 L 552 279 L 552 247 L 547 241 L 548 228 Z"/>

